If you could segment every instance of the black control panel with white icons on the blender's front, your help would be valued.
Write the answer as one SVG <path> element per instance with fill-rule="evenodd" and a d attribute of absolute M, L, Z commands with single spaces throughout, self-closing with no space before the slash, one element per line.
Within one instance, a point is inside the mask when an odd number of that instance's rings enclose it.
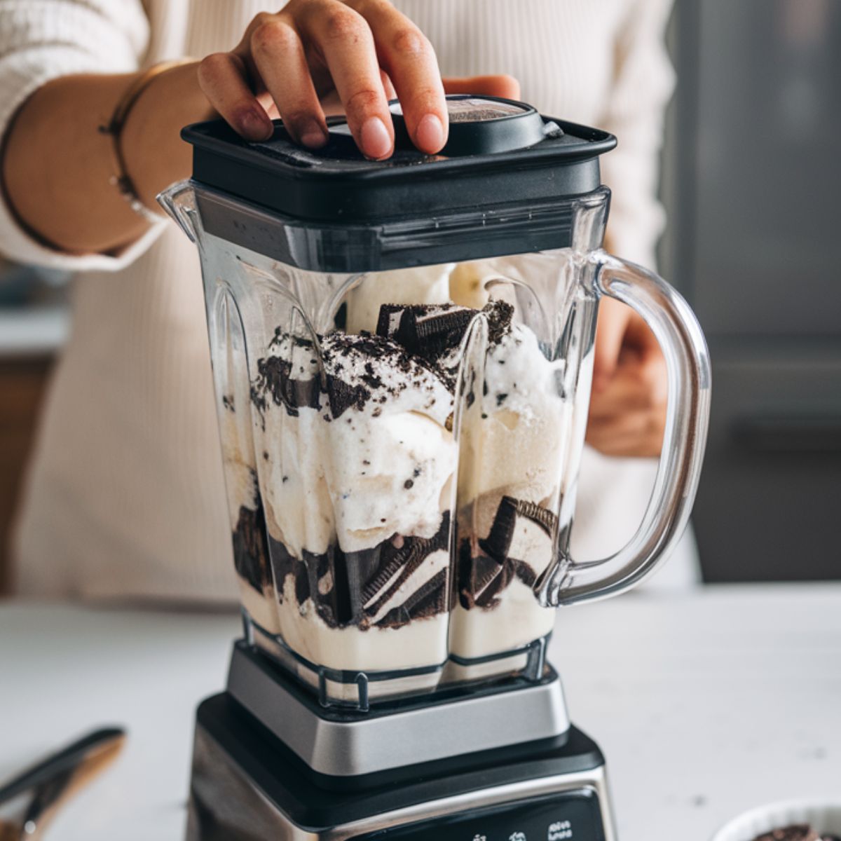
<path fill-rule="evenodd" d="M 456 812 L 352 841 L 604 841 L 599 800 L 591 791 Z"/>

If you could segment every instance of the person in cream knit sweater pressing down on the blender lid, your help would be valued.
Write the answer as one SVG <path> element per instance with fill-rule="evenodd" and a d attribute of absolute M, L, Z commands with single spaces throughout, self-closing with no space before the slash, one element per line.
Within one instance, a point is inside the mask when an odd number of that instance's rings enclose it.
<path fill-rule="evenodd" d="M 0 4 L 0 250 L 76 272 L 71 336 L 16 530 L 16 589 L 235 598 L 198 258 L 155 202 L 190 172 L 182 125 L 219 114 L 262 140 L 280 116 L 294 139 L 317 147 L 325 114 L 339 109 L 362 152 L 384 158 L 395 94 L 411 140 L 429 153 L 447 137 L 445 91 L 522 96 L 621 138 L 603 159 L 614 191 L 608 246 L 653 266 L 663 224 L 657 156 L 673 85 L 663 44 L 670 3 Z M 171 59 L 183 61 L 161 64 Z M 125 112 L 118 120 L 115 109 Z M 648 329 L 605 301 L 574 527 L 579 558 L 616 549 L 642 515 L 664 382 Z"/>

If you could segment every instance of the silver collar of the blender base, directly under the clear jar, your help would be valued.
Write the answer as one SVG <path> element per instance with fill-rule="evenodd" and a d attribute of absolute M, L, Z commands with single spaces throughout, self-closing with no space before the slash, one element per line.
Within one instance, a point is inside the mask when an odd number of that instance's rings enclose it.
<path fill-rule="evenodd" d="M 518 680 L 492 692 L 445 692 L 365 713 L 320 708 L 306 690 L 283 677 L 255 649 L 235 644 L 230 696 L 319 774 L 372 774 L 554 738 L 569 730 L 561 682 L 552 669 L 535 683 Z"/>

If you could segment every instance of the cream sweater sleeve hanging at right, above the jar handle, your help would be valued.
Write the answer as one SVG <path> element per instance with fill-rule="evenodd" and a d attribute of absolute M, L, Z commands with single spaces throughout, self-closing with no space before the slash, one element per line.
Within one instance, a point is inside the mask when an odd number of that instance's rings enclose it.
<path fill-rule="evenodd" d="M 616 40 L 613 85 L 602 125 L 619 145 L 602 158 L 613 193 L 607 236 L 618 257 L 655 267 L 665 214 L 659 204 L 659 152 L 674 69 L 664 34 L 673 0 L 633 0 Z"/>

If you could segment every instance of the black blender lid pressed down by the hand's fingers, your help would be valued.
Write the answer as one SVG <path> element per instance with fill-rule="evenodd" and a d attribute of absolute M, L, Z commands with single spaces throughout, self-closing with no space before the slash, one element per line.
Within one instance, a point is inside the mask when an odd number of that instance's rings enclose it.
<path fill-rule="evenodd" d="M 288 217 L 366 223 L 438 216 L 458 209 L 563 202 L 600 186 L 598 158 L 616 145 L 605 131 L 538 114 L 526 103 L 468 94 L 447 97 L 447 145 L 426 155 L 411 145 L 399 102 L 390 103 L 395 151 L 369 161 L 344 118 L 329 140 L 304 149 L 275 121 L 249 143 L 222 120 L 189 125 L 193 179 Z"/>

